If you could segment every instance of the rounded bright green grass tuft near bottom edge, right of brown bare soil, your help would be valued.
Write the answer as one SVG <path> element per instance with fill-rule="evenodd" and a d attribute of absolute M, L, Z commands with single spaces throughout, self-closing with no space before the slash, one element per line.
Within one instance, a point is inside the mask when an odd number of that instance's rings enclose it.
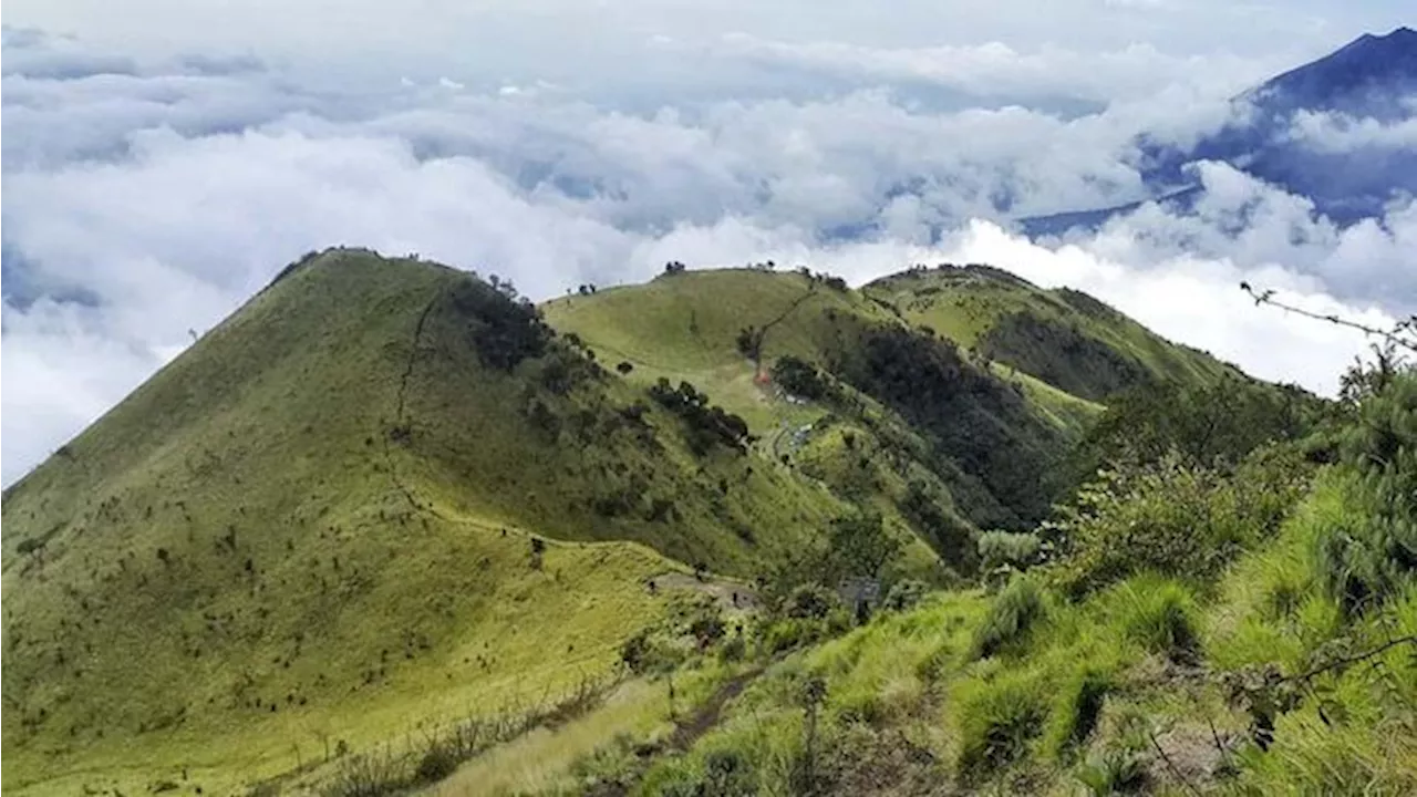
<path fill-rule="evenodd" d="M 1019 760 L 1043 729 L 1039 684 L 1007 675 L 959 703 L 959 774 L 981 780 Z"/>

